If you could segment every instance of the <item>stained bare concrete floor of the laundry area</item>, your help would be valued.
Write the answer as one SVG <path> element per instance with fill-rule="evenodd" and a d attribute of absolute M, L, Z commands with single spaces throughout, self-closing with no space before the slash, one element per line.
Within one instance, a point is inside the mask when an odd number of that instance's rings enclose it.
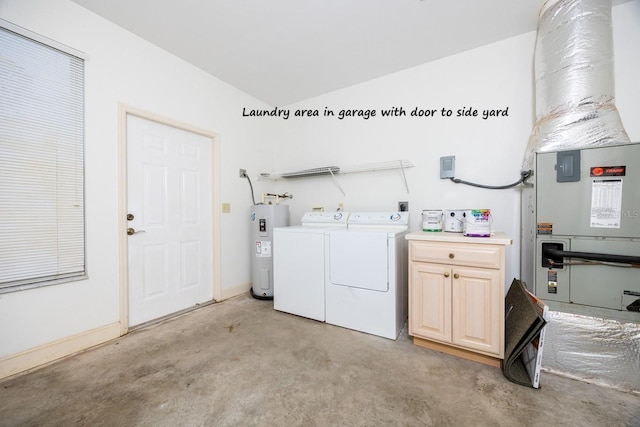
<path fill-rule="evenodd" d="M 0 425 L 640 425 L 639 396 L 541 381 L 242 295 L 0 381 Z"/>

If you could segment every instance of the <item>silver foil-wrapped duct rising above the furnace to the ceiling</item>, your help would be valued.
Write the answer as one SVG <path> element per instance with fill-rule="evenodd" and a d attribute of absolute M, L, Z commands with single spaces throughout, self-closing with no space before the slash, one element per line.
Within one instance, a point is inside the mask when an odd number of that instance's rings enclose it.
<path fill-rule="evenodd" d="M 535 50 L 536 152 L 628 143 L 614 103 L 611 0 L 548 0 Z"/>

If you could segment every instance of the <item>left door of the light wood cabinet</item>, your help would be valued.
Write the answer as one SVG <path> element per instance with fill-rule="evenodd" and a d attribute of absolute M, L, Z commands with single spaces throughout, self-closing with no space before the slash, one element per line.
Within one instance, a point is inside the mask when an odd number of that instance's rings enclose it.
<path fill-rule="evenodd" d="M 411 263 L 409 334 L 451 342 L 451 269 Z"/>

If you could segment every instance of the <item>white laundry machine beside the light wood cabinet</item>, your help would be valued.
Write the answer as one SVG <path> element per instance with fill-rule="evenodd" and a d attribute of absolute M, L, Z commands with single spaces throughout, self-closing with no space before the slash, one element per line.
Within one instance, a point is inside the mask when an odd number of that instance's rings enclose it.
<path fill-rule="evenodd" d="M 329 232 L 327 323 L 395 340 L 407 320 L 408 212 L 353 212 Z"/>

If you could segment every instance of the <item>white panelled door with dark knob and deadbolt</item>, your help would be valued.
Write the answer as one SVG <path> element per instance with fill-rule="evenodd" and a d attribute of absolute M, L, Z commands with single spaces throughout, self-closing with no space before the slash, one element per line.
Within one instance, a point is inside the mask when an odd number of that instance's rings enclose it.
<path fill-rule="evenodd" d="M 213 298 L 212 167 L 211 138 L 127 115 L 129 326 Z"/>

